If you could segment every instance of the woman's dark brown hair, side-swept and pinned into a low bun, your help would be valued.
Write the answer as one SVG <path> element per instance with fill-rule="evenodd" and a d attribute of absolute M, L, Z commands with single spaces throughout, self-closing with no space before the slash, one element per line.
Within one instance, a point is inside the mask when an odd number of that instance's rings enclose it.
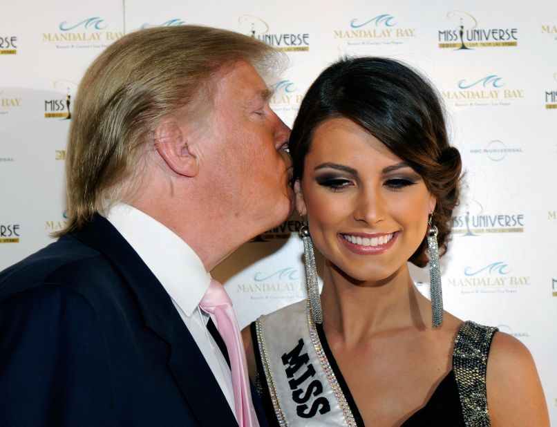
<path fill-rule="evenodd" d="M 381 141 L 422 176 L 437 198 L 433 225 L 440 255 L 446 252 L 460 190 L 460 153 L 449 145 L 440 97 L 428 80 L 399 61 L 345 58 L 326 68 L 310 86 L 290 136 L 294 178 L 303 175 L 305 155 L 317 127 L 346 117 Z M 426 237 L 410 262 L 428 263 Z"/>

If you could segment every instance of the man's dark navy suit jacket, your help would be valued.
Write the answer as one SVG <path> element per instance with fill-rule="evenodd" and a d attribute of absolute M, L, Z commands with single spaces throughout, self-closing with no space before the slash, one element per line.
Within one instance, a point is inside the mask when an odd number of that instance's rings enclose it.
<path fill-rule="evenodd" d="M 237 425 L 164 287 L 101 216 L 0 273 L 0 406 L 10 427 Z"/>

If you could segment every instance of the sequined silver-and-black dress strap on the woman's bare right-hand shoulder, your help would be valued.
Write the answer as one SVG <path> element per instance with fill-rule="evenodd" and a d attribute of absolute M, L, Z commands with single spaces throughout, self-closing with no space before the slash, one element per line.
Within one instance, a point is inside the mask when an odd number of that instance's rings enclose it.
<path fill-rule="evenodd" d="M 491 426 L 485 377 L 491 340 L 497 330 L 466 321 L 455 339 L 453 371 L 466 426 Z"/>

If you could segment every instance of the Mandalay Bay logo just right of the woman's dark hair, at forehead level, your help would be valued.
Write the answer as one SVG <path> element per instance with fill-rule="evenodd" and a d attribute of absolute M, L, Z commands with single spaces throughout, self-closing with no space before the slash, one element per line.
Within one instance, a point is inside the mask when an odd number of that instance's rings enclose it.
<path fill-rule="evenodd" d="M 524 98 L 524 89 L 507 85 L 496 74 L 460 79 L 453 88 L 441 91 L 446 101 L 456 107 L 507 106 Z"/>

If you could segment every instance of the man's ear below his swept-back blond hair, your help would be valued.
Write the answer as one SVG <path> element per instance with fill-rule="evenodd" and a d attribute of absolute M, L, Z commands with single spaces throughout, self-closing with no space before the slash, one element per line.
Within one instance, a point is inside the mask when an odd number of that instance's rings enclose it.
<path fill-rule="evenodd" d="M 155 129 L 155 149 L 178 175 L 193 177 L 198 174 L 198 158 L 189 150 L 187 135 L 173 118 L 162 119 Z"/>

